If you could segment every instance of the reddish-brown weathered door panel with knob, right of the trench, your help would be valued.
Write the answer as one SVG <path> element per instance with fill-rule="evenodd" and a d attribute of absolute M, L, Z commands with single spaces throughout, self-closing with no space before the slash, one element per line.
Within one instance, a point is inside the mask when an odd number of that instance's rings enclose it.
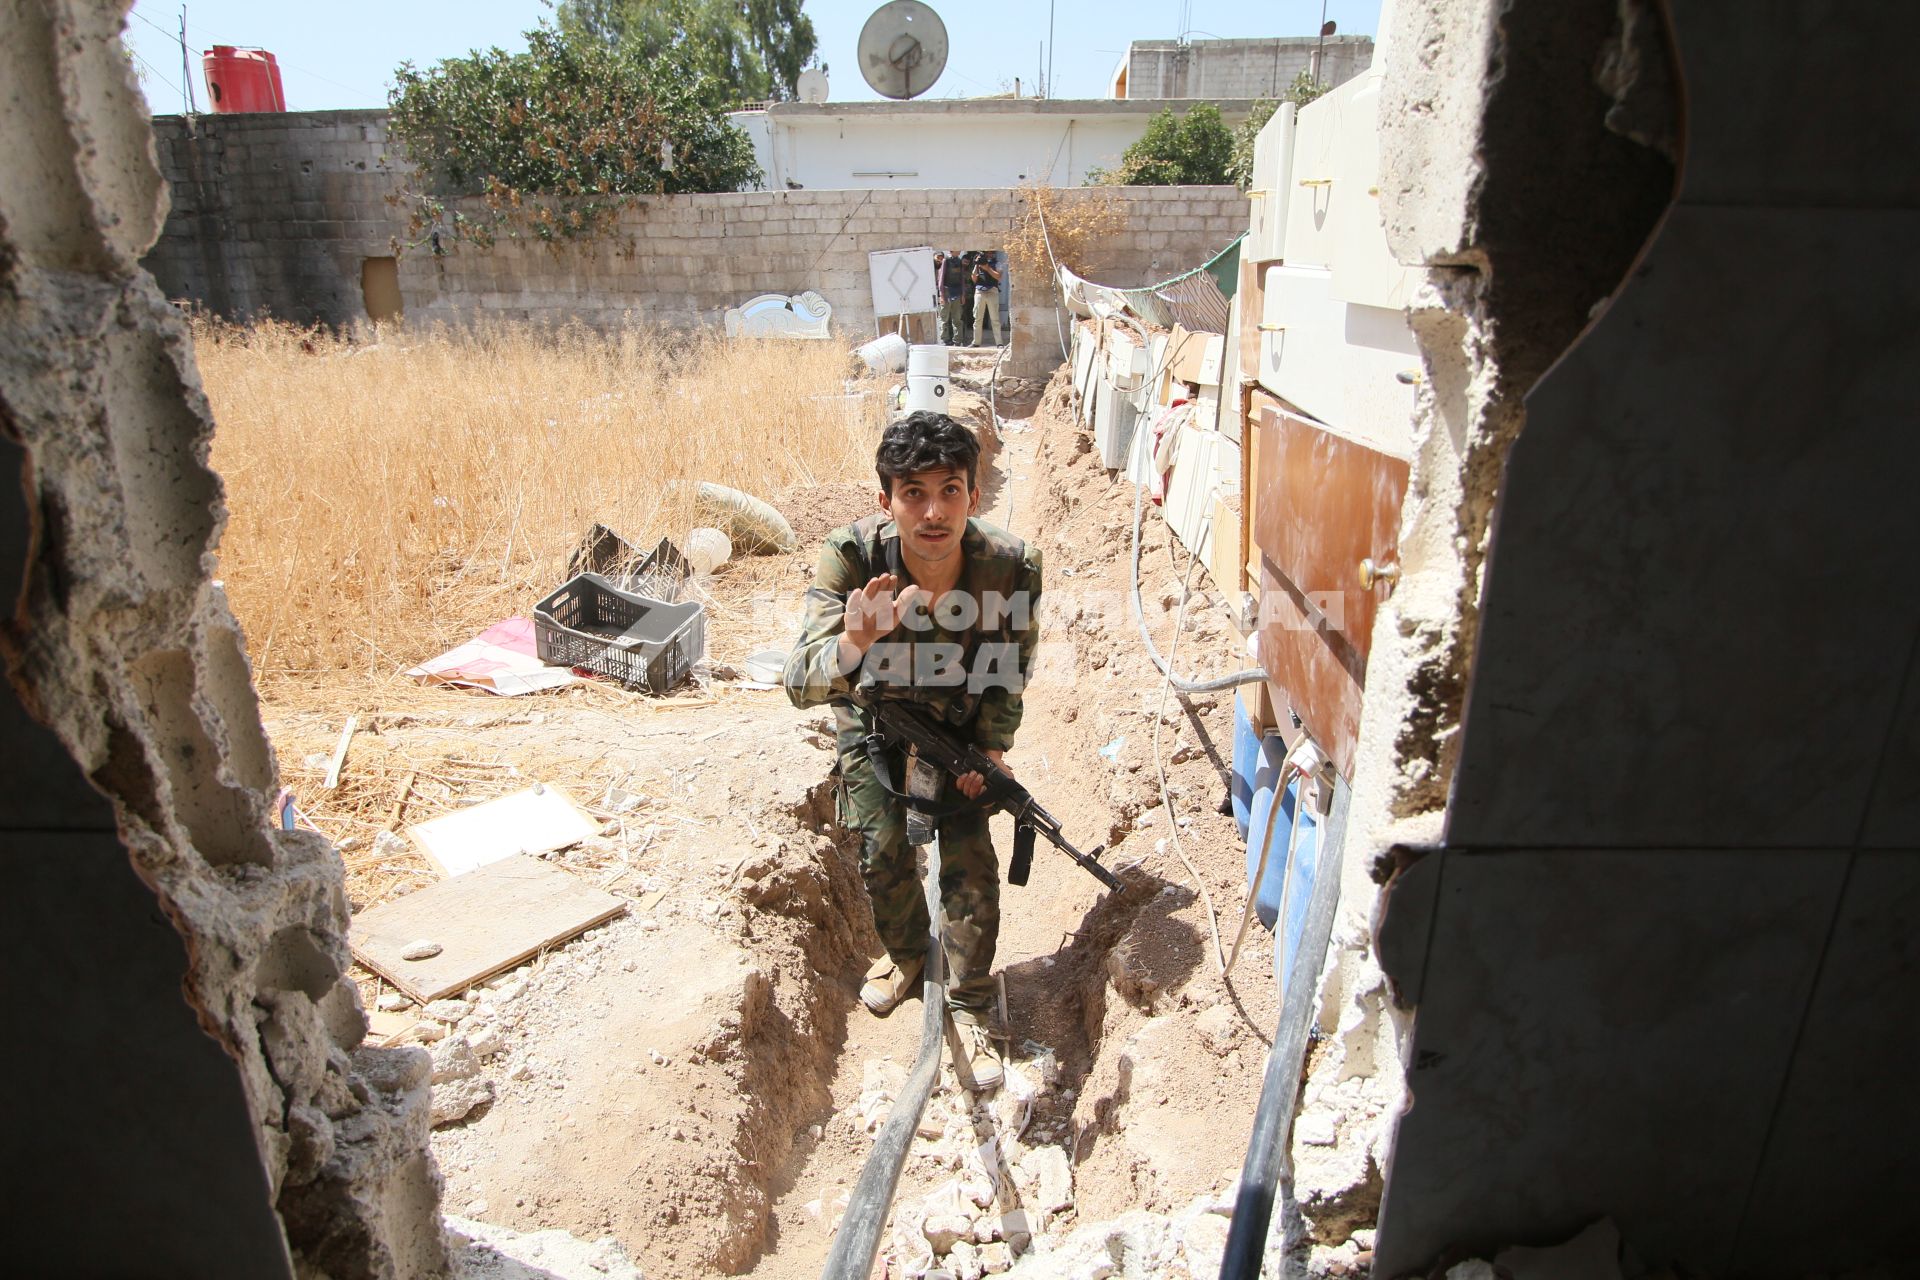
<path fill-rule="evenodd" d="M 1352 777 L 1373 618 L 1398 572 L 1407 462 L 1254 397 L 1260 434 L 1254 541 L 1260 547 L 1260 662 L 1294 714 Z"/>

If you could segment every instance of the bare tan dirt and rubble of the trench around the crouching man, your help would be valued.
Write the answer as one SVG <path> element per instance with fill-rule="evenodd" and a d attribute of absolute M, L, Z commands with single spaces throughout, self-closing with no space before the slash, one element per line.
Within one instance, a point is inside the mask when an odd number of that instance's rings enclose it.
<path fill-rule="evenodd" d="M 954 380 L 983 390 L 987 372 L 964 359 Z M 1046 558 L 1046 641 L 1008 762 L 1081 848 L 1108 844 L 1127 889 L 1102 892 L 1044 842 L 1031 883 L 1002 889 L 1008 1084 L 973 1100 L 943 1071 L 885 1274 L 1044 1274 L 1075 1226 L 1183 1209 L 1162 1270 L 1212 1274 L 1277 1011 L 1265 950 L 1219 973 L 1244 900 L 1225 812 L 1231 695 L 1165 693 L 1127 610 L 1133 487 L 1098 466 L 1064 378 L 1025 403 L 1002 393 L 998 432 L 956 399 L 991 445 L 983 516 Z M 833 818 L 826 714 L 733 672 L 791 643 L 818 537 L 872 503 L 860 482 L 780 495 L 803 549 L 708 583 L 714 670 L 693 695 L 570 691 L 526 710 L 422 693 L 369 718 L 355 768 L 426 760 L 426 800 L 442 783 L 532 777 L 582 798 L 603 833 L 549 858 L 628 900 L 463 1000 L 396 1007 L 363 975 L 369 1006 L 411 1021 L 390 1034 L 436 1057 L 447 1213 L 611 1236 L 647 1276 L 818 1274 L 916 1054 L 920 1006 L 874 1019 L 856 1002 L 879 946 Z M 1162 652 L 1183 674 L 1242 666 L 1223 593 L 1152 516 L 1142 557 Z M 296 789 L 336 727 L 269 722 Z M 995 831 L 1004 856 L 1004 818 Z M 359 906 L 419 875 L 401 844 L 382 848 Z"/>

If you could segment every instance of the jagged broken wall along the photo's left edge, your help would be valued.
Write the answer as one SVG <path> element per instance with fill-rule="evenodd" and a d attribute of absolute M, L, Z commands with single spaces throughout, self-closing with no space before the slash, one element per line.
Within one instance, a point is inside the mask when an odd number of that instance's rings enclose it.
<path fill-rule="evenodd" d="M 25 762 L 33 783 L 8 787 L 4 816 L 38 831 L 10 842 L 10 898 L 44 894 L 10 910 L 10 942 L 48 961 L 35 969 L 56 1009 L 48 1040 L 119 1055 L 104 1080 L 90 1057 L 65 1073 L 44 1063 L 61 1092 L 100 1082 L 67 1115 L 67 1142 L 86 1153 L 69 1167 L 188 1176 L 127 1188 L 115 1203 L 52 1178 L 25 1203 L 44 1211 L 42 1230 L 84 1230 L 75 1247 L 111 1255 L 98 1270 L 152 1274 L 148 1236 L 119 1226 L 171 1222 L 159 1238 L 173 1240 L 192 1217 L 175 1219 L 169 1203 L 184 1203 L 232 1222 L 213 1240 L 236 1253 L 205 1267 L 180 1255 L 182 1272 L 284 1274 L 292 1259 L 336 1280 L 445 1274 L 426 1055 L 359 1048 L 340 856 L 269 816 L 276 770 L 240 633 L 211 583 L 225 516 L 207 470 L 211 420 L 186 330 L 138 267 L 165 200 L 119 44 L 125 10 L 27 0 L 4 10 L 0 31 L 12 86 L 0 125 L 0 457 L 19 495 L 0 537 L 15 587 L 0 651 L 6 706 L 17 699 L 25 712 L 6 712 L 10 771 Z M 171 940 L 138 929 L 140 896 Z M 75 948 L 88 931 L 109 936 Z M 111 973 L 102 958 L 132 969 Z M 150 1034 L 100 1038 L 129 992 L 180 1004 L 138 1006 L 127 1031 Z M 196 1100 L 205 1115 L 165 1113 Z M 21 1132 L 44 1132 L 44 1119 Z M 190 1134 L 175 1128 L 182 1121 Z M 232 1146 L 244 1134 L 252 1176 Z M 169 1163 L 156 1140 L 186 1146 Z M 102 1228 L 102 1215 L 119 1226 Z"/>

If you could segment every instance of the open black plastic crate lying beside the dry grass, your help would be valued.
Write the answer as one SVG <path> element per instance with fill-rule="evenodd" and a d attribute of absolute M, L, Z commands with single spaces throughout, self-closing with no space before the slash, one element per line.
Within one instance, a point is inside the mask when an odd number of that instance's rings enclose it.
<path fill-rule="evenodd" d="M 707 606 L 668 604 L 580 574 L 534 606 L 534 652 L 549 666 L 666 693 L 707 652 Z"/>

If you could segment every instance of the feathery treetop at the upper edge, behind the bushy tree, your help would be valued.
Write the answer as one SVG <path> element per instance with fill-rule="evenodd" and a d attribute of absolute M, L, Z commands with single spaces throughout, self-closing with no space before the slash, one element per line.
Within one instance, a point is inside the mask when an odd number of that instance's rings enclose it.
<path fill-rule="evenodd" d="M 572 40 L 637 46 L 647 58 L 682 46 L 728 106 L 799 92 L 816 50 L 803 0 L 549 0 Z"/>

